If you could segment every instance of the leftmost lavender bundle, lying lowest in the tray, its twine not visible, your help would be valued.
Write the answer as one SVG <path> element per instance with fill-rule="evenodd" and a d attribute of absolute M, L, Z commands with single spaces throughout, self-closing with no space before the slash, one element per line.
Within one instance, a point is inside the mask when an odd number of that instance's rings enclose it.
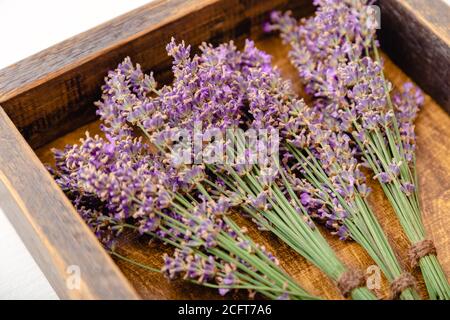
<path fill-rule="evenodd" d="M 231 199 L 213 200 L 201 188 L 201 194 L 186 192 L 206 179 L 201 166 L 167 165 L 129 136 L 88 135 L 56 151 L 56 159 L 56 181 L 115 256 L 138 264 L 114 251 L 115 237 L 129 229 L 175 248 L 162 267 L 171 279 L 182 276 L 222 295 L 246 289 L 271 299 L 317 299 L 229 217 Z"/>

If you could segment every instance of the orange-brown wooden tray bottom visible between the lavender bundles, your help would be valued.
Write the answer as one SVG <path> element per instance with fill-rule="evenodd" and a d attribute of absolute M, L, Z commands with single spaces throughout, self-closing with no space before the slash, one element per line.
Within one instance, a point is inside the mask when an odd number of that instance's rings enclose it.
<path fill-rule="evenodd" d="M 302 94 L 296 71 L 287 59 L 288 48 L 283 46 L 277 38 L 260 40 L 257 42 L 257 46 L 273 55 L 274 64 L 281 69 L 284 77 L 293 82 L 299 94 Z M 387 76 L 395 85 L 401 85 L 408 80 L 408 77 L 387 56 L 384 56 L 384 58 Z M 98 126 L 99 122 L 96 121 L 81 127 L 49 145 L 37 149 L 36 153 L 43 162 L 51 164 L 53 162 L 49 151 L 51 147 L 63 148 L 68 143 L 75 143 L 84 135 L 86 130 L 99 133 Z M 442 143 L 442 140 L 439 139 L 439 136 L 448 137 L 450 135 L 450 117 L 429 96 L 426 97 L 425 107 L 417 121 L 417 133 L 419 135 L 417 165 L 424 207 L 424 223 L 430 238 L 436 244 L 444 270 L 447 275 L 450 275 L 450 216 L 447 214 L 450 209 L 450 146 Z M 392 246 L 406 266 L 408 240 L 379 185 L 371 181 L 370 186 L 374 189 L 374 192 L 369 200 L 388 234 Z M 316 267 L 275 236 L 256 231 L 251 223 L 238 215 L 236 215 L 236 218 L 242 225 L 249 228 L 250 236 L 253 239 L 264 243 L 269 250 L 276 253 L 281 265 L 307 290 L 325 298 L 341 299 L 335 285 Z M 348 266 L 366 270 L 369 266 L 374 265 L 371 258 L 358 244 L 342 242 L 326 232 L 324 234 L 338 257 Z M 132 236 L 125 236 L 121 239 L 118 249 L 123 255 L 141 263 L 161 266 L 161 255 L 164 252 L 170 253 L 171 249 L 158 243 L 147 245 L 147 241 L 148 239 L 139 240 Z M 150 298 L 155 293 L 165 299 L 216 299 L 220 297 L 214 290 L 198 288 L 182 281 L 167 282 L 162 275 L 145 271 L 120 260 L 116 260 L 116 262 L 143 298 Z M 426 297 L 420 272 L 414 271 L 413 273 L 419 280 L 421 295 Z M 387 297 L 387 286 L 384 280 L 377 293 L 380 297 Z M 228 298 L 233 297 L 240 298 L 242 296 L 232 295 Z"/>

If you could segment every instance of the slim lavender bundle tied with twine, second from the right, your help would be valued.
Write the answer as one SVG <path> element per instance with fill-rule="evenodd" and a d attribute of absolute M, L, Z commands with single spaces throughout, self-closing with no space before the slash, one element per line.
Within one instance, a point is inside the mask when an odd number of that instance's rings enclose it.
<path fill-rule="evenodd" d="M 392 298 L 419 298 L 367 203 L 370 190 L 350 139 L 328 130 L 323 114 L 299 101 L 276 69 L 254 70 L 248 81 L 250 113 L 257 126 L 280 131 L 283 162 L 303 207 L 342 239 L 350 236 L 364 247 L 391 282 Z"/>

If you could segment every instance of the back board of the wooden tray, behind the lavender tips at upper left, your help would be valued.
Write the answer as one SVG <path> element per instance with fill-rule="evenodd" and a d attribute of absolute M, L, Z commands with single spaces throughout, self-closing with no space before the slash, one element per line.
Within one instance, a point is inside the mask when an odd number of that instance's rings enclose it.
<path fill-rule="evenodd" d="M 274 8 L 312 12 L 308 0 L 165 0 L 150 3 L 0 70 L 0 105 L 33 147 L 95 119 L 107 71 L 125 57 L 170 81 L 172 36 L 193 46 L 258 38 Z"/>

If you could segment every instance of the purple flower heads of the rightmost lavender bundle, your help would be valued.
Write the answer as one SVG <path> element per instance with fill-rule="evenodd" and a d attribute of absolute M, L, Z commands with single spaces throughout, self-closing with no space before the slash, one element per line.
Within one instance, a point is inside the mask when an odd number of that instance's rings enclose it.
<path fill-rule="evenodd" d="M 321 122 L 329 130 L 349 133 L 358 144 L 355 154 L 359 155 L 362 149 L 374 148 L 371 135 L 378 143 L 397 145 L 397 152 L 412 165 L 413 122 L 423 95 L 407 83 L 401 92 L 394 94 L 392 108 L 393 88 L 383 75 L 383 62 L 378 58 L 375 40 L 375 16 L 368 4 L 365 0 L 315 1 L 318 8 L 313 17 L 299 23 L 289 12 L 276 12 L 271 16 L 270 29 L 280 31 L 284 42 L 291 46 L 290 59 L 299 71 L 306 92 L 314 98 L 313 109 L 323 115 Z M 389 131 L 395 133 L 396 122 L 400 137 L 392 138 Z M 304 134 L 293 139 L 298 148 L 305 147 L 307 142 Z M 405 161 L 394 158 L 392 154 L 383 162 L 372 159 L 371 166 L 378 168 L 374 169 L 375 179 L 386 184 L 400 176 Z M 366 195 L 367 188 L 363 189 Z M 407 189 L 412 187 L 403 187 Z M 338 188 L 341 195 L 350 191 Z"/>

